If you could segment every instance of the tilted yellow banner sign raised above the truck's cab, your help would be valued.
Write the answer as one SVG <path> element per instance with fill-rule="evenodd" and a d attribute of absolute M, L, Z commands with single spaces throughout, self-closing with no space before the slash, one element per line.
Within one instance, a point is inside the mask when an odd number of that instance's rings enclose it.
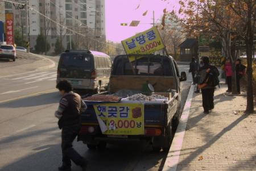
<path fill-rule="evenodd" d="M 127 54 L 151 54 L 164 48 L 157 27 L 122 41 Z"/>

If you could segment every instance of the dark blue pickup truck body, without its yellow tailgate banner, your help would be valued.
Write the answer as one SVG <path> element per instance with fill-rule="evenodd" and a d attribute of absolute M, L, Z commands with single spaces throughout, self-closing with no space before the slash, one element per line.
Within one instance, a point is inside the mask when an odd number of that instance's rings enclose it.
<path fill-rule="evenodd" d="M 124 131 L 125 134 L 123 135 L 111 135 L 111 131 L 108 134 L 102 132 L 96 106 L 105 103 L 120 106 L 121 101 L 85 101 L 88 109 L 81 114 L 82 127 L 77 140 L 82 141 L 89 149 L 105 149 L 106 144 L 113 141 L 148 140 L 154 151 L 168 150 L 179 124 L 180 82 L 186 80 L 185 72 L 179 73 L 176 61 L 171 56 L 119 55 L 115 57 L 108 92 L 105 94 L 118 94 L 118 92 L 127 91 L 142 92 L 146 95 L 164 95 L 166 101 L 160 103 L 154 101 L 133 102 L 137 105 L 143 105 L 143 133 L 137 135 L 129 134 L 129 131 Z M 147 85 L 151 85 L 154 90 L 151 90 L 152 88 L 147 89 Z M 127 97 L 126 94 L 119 94 L 119 96 L 121 98 Z M 131 121 L 131 123 L 133 122 Z"/>

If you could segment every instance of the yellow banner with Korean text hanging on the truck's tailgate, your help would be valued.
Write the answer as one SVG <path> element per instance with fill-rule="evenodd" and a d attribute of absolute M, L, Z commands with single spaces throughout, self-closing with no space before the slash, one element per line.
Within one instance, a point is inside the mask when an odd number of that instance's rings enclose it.
<path fill-rule="evenodd" d="M 143 135 L 144 105 L 101 103 L 93 105 L 96 115 L 106 124 L 106 135 Z"/>

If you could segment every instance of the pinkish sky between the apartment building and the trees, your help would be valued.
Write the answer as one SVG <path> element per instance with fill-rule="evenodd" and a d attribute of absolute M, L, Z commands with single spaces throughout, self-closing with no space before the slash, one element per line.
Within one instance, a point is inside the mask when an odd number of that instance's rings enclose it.
<path fill-rule="evenodd" d="M 160 23 L 163 10 L 177 10 L 179 0 L 105 0 L 106 39 L 121 43 L 122 40 L 152 27 L 153 10 L 155 22 Z M 137 9 L 137 7 L 139 8 Z M 147 15 L 142 14 L 147 11 Z M 132 20 L 140 20 L 137 27 L 129 27 Z M 121 26 L 128 23 L 128 26 Z"/>

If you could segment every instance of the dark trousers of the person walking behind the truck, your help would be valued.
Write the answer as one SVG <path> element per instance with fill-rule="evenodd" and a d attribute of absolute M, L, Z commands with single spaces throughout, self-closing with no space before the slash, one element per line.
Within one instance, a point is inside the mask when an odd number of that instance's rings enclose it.
<path fill-rule="evenodd" d="M 64 165 L 71 166 L 71 160 L 76 165 L 82 166 L 84 164 L 84 158 L 73 149 L 73 141 L 80 131 L 80 124 L 73 126 L 65 126 L 61 132 L 61 150 L 62 150 L 62 161 Z"/>

